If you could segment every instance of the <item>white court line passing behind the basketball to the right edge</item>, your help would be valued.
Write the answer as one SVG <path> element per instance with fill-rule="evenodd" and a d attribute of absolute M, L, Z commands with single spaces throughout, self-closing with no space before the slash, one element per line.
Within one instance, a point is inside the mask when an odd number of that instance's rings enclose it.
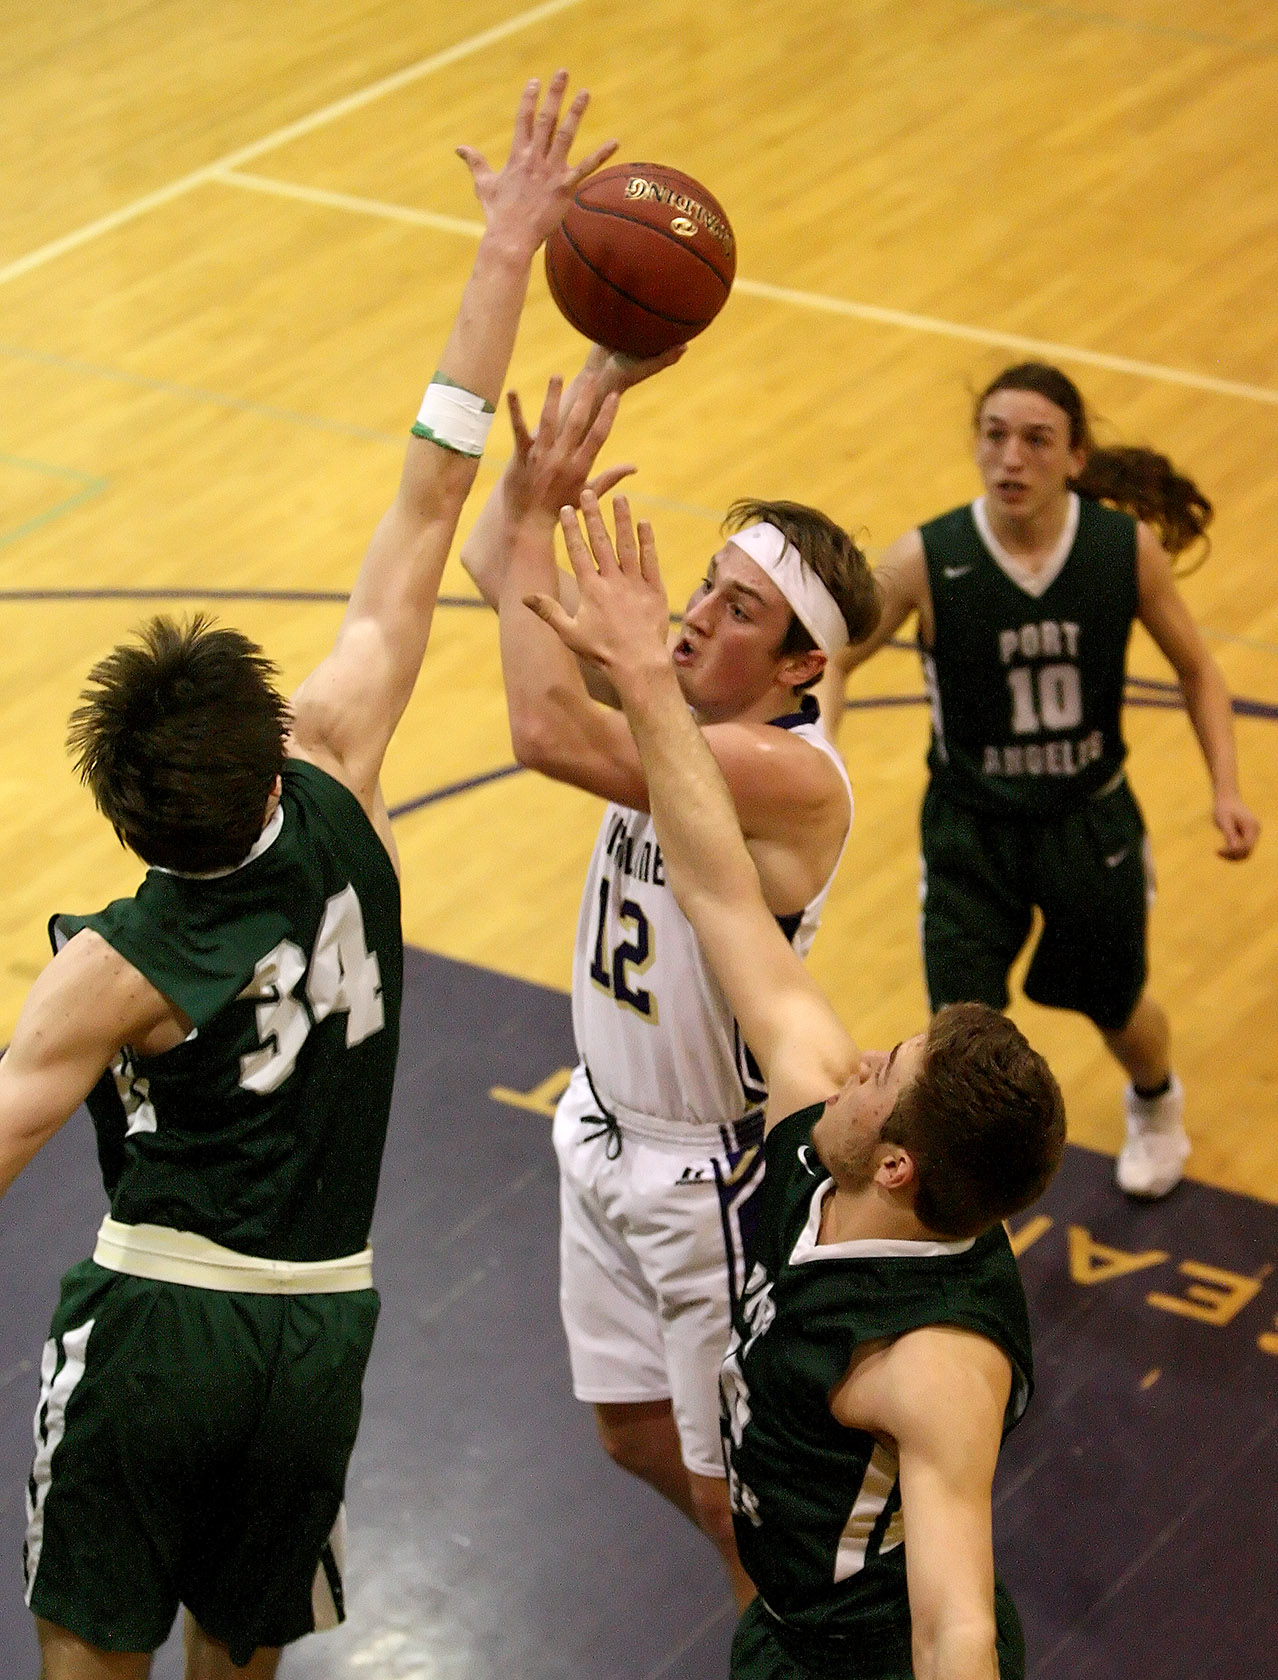
<path fill-rule="evenodd" d="M 348 193 L 331 193 L 322 186 L 297 186 L 291 181 L 277 181 L 267 175 L 245 175 L 242 171 L 218 170 L 217 176 L 225 186 L 245 186 L 257 193 L 275 193 L 280 198 L 301 198 L 304 203 L 326 205 L 331 210 L 349 210 L 356 215 L 385 217 L 393 222 L 415 222 L 420 227 L 433 227 L 443 234 L 465 234 L 479 239 L 484 232 L 482 222 L 465 222 L 460 217 L 435 215 L 432 210 L 413 210 L 408 205 L 383 203 L 378 198 L 351 198 Z M 1253 403 L 1278 405 L 1278 390 L 1265 385 L 1243 385 L 1238 380 L 1218 380 L 1209 373 L 1191 373 L 1187 368 L 1165 368 L 1157 361 L 1134 361 L 1130 356 L 1110 356 L 1100 349 L 1080 349 L 1075 344 L 1055 344 L 1050 339 L 1023 338 L 1019 333 L 996 333 L 982 326 L 966 326 L 961 321 L 942 321 L 937 316 L 907 314 L 902 309 L 882 309 L 878 304 L 855 304 L 843 297 L 826 297 L 821 292 L 798 292 L 788 286 L 769 286 L 766 281 L 747 281 L 737 277 L 734 291 L 746 297 L 762 297 L 767 302 L 791 304 L 796 309 L 816 309 L 825 314 L 851 316 L 858 321 L 873 321 L 880 326 L 898 326 L 910 333 L 934 333 L 940 338 L 961 338 L 974 344 L 998 344 L 999 349 L 1018 349 L 1026 356 L 1041 361 L 1082 361 L 1092 368 L 1110 368 L 1115 373 L 1135 373 L 1145 380 L 1160 380 L 1164 385 L 1187 385 L 1196 391 L 1211 391 L 1216 396 L 1241 396 Z"/>

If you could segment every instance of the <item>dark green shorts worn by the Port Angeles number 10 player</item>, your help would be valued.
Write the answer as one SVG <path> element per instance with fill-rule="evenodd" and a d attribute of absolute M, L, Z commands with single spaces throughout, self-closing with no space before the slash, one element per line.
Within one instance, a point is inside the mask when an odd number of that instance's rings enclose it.
<path fill-rule="evenodd" d="M 1125 781 L 1048 820 L 977 811 L 932 785 L 922 852 L 932 1010 L 966 1001 L 1006 1008 L 1008 969 L 1038 909 L 1043 931 L 1024 995 L 1076 1010 L 1103 1032 L 1127 1025 L 1145 990 L 1154 879 L 1140 806 Z"/>

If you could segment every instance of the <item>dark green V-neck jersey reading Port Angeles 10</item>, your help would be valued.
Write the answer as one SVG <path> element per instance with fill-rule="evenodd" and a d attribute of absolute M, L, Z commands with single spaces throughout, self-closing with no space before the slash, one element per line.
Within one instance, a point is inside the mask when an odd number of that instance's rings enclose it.
<path fill-rule="evenodd" d="M 927 763 L 962 805 L 1051 816 L 1122 768 L 1127 642 L 1137 615 L 1135 521 L 1078 497 L 1078 529 L 1041 595 L 1014 583 L 972 507 L 920 528 L 935 640 Z"/>

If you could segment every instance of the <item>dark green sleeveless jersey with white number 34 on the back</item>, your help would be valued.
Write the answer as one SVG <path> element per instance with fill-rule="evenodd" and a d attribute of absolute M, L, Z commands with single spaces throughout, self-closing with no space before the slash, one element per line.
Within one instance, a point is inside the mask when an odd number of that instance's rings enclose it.
<path fill-rule="evenodd" d="M 151 869 L 92 927 L 193 1030 L 128 1050 L 87 1107 L 111 1215 L 269 1260 L 368 1242 L 400 1038 L 400 884 L 348 788 L 291 759 L 238 869 Z"/>

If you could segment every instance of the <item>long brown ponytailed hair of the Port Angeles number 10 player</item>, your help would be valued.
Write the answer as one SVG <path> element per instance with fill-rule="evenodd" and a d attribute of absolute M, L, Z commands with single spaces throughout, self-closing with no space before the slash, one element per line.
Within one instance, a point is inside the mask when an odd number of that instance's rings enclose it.
<path fill-rule="evenodd" d="M 1191 566 L 1181 568 L 1181 576 L 1202 564 L 1211 548 L 1206 533 L 1214 509 L 1197 484 L 1177 472 L 1165 455 L 1132 445 L 1098 449 L 1082 391 L 1068 375 L 1048 363 L 1021 361 L 1014 368 L 1004 368 L 977 396 L 974 425 L 979 427 L 981 412 L 994 391 L 1033 391 L 1060 408 L 1070 422 L 1070 449 L 1087 454 L 1087 464 L 1070 480 L 1070 489 L 1144 519 L 1159 533 L 1169 554 L 1184 554 L 1201 544 L 1199 556 Z"/>

